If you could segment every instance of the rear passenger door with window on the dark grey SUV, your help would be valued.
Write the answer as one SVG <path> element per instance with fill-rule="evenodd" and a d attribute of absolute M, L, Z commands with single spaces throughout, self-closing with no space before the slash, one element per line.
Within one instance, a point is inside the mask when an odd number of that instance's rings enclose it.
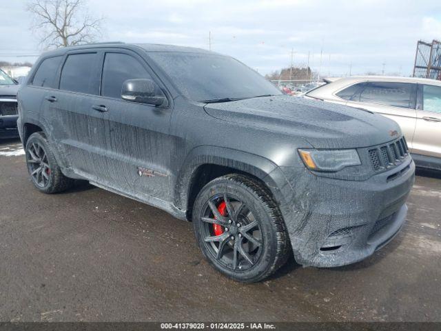
<path fill-rule="evenodd" d="M 48 94 L 54 138 L 68 166 L 83 177 L 96 176 L 93 141 L 89 132 L 94 97 L 99 94 L 99 53 L 92 50 L 65 55 L 59 90 Z"/>

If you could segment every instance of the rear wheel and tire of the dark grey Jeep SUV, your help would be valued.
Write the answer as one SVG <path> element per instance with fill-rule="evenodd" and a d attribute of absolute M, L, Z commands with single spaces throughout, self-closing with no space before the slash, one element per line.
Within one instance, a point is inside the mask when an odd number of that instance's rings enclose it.
<path fill-rule="evenodd" d="M 43 132 L 30 135 L 25 146 L 26 165 L 34 186 L 43 193 L 71 188 L 74 180 L 65 177 Z"/>

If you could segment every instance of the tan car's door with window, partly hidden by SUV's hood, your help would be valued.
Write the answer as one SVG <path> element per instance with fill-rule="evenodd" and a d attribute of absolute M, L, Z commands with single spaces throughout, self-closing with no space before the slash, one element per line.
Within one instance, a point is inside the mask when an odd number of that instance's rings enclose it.
<path fill-rule="evenodd" d="M 371 110 L 396 121 L 412 150 L 416 127 L 416 88 L 415 83 L 369 81 L 347 102 L 347 106 Z"/>

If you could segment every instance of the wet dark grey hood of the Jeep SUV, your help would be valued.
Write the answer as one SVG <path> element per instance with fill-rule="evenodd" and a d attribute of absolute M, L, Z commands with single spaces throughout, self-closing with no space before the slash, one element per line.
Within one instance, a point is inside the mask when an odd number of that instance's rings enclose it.
<path fill-rule="evenodd" d="M 401 132 L 396 122 L 379 114 L 285 95 L 209 103 L 205 111 L 223 121 L 301 137 L 314 148 L 369 147 Z"/>

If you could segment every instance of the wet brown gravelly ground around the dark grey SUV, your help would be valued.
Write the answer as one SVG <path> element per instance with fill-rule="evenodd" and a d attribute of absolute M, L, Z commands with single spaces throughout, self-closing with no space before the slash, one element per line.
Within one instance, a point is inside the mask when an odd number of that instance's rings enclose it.
<path fill-rule="evenodd" d="M 441 174 L 418 172 L 395 240 L 263 283 L 214 271 L 192 224 L 79 183 L 54 195 L 0 142 L 0 321 L 441 321 Z"/>

